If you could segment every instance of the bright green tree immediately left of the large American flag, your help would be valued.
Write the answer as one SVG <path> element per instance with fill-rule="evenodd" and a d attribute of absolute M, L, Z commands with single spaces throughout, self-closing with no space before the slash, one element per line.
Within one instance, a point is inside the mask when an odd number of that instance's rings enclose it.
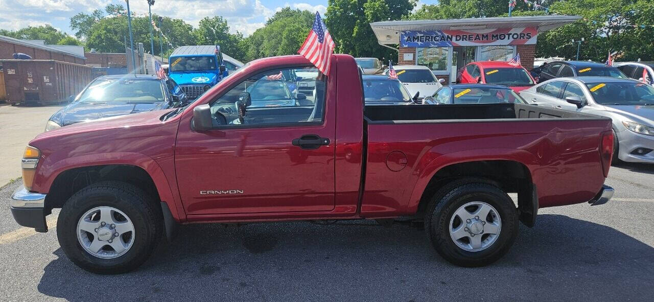
<path fill-rule="evenodd" d="M 279 10 L 266 22 L 266 26 L 257 29 L 243 41 L 242 45 L 247 45 L 241 46 L 246 50 L 245 61 L 297 54 L 309 35 L 314 18 L 315 14 L 308 10 L 292 10 L 289 7 Z"/>

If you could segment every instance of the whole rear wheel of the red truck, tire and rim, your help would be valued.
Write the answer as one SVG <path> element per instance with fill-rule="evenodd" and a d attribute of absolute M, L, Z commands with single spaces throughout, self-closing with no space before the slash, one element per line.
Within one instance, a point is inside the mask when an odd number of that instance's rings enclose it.
<path fill-rule="evenodd" d="M 439 190 L 424 224 L 438 254 L 462 267 L 489 265 L 502 258 L 518 232 L 511 197 L 481 179 L 457 180 Z"/>

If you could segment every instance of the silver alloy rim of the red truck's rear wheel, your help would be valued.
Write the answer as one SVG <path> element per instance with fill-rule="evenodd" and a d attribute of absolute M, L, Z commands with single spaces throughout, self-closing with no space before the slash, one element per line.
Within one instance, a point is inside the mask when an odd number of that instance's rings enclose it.
<path fill-rule="evenodd" d="M 497 210 L 481 201 L 472 201 L 456 209 L 449 223 L 452 241 L 469 252 L 491 246 L 501 230 L 502 220 Z"/>

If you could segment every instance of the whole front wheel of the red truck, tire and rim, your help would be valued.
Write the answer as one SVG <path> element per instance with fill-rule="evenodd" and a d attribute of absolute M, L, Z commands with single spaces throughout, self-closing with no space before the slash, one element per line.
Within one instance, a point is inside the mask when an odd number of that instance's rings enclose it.
<path fill-rule="evenodd" d="M 162 238 L 152 197 L 122 182 L 98 182 L 63 205 L 57 237 L 76 265 L 98 274 L 126 273 L 147 260 Z"/>

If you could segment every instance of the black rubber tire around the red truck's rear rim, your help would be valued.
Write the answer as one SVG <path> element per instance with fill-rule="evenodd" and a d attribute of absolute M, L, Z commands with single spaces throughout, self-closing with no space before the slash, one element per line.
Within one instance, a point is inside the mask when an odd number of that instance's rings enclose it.
<path fill-rule="evenodd" d="M 470 201 L 483 201 L 496 209 L 502 221 L 497 239 L 478 252 L 457 246 L 450 237 L 449 223 L 454 212 Z M 511 197 L 483 179 L 456 180 L 436 192 L 424 217 L 424 229 L 438 254 L 462 267 L 489 265 L 508 252 L 518 235 L 517 209 Z"/>

